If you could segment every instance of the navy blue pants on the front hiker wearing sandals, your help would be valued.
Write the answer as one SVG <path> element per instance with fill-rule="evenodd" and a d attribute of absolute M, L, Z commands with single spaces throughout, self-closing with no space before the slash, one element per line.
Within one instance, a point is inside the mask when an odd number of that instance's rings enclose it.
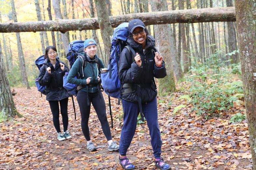
<path fill-rule="evenodd" d="M 126 155 L 127 149 L 129 148 L 135 130 L 137 126 L 137 117 L 139 114 L 139 105 L 138 103 L 128 102 L 122 100 L 123 106 L 123 127 L 121 131 L 120 137 L 120 146 L 119 146 L 119 153 L 122 156 Z M 142 104 L 142 111 L 147 120 L 147 124 L 149 127 L 149 134 L 151 137 L 151 146 L 153 148 L 153 154 L 156 159 L 161 158 L 161 134 L 157 119 L 157 100 L 154 98 L 147 104 Z"/>

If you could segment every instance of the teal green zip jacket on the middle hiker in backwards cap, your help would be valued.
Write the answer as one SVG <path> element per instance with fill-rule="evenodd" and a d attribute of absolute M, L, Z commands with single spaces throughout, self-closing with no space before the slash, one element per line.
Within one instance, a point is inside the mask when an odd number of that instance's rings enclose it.
<path fill-rule="evenodd" d="M 96 62 L 86 61 L 87 62 L 86 67 L 83 68 L 84 75 L 81 76 L 81 79 L 78 79 L 76 76 L 77 76 L 78 73 L 80 73 L 79 65 L 82 65 L 83 61 L 80 58 L 77 59 L 74 62 L 73 66 L 72 66 L 72 68 L 71 68 L 71 70 L 70 70 L 70 72 L 67 76 L 67 82 L 72 83 L 72 84 L 76 84 L 76 85 L 84 85 L 85 86 L 86 85 L 86 79 L 88 77 L 92 77 L 89 85 L 93 85 L 93 86 L 88 87 L 88 92 L 94 93 L 94 92 L 98 91 L 98 88 L 97 88 L 96 85 L 99 83 L 99 80 L 98 80 L 97 77 L 98 76 L 100 77 L 99 70 L 101 68 L 105 68 L 105 66 L 104 66 L 104 63 L 102 62 L 102 60 L 99 57 L 97 57 L 97 61 L 98 61 L 98 64 L 99 64 L 99 69 L 97 67 Z M 81 90 L 86 92 L 86 88 L 83 88 Z"/>

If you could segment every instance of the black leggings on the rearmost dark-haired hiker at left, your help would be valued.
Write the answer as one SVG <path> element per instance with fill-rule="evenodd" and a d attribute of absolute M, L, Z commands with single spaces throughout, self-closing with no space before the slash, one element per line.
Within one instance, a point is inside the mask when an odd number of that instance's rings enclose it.
<path fill-rule="evenodd" d="M 67 125 L 68 125 L 67 103 L 68 103 L 68 98 L 64 98 L 60 100 L 61 116 L 62 116 L 64 132 L 67 130 Z M 53 125 L 57 130 L 57 132 L 59 133 L 61 132 L 60 120 L 59 120 L 59 115 L 60 115 L 59 101 L 49 101 L 49 104 L 50 104 L 51 113 L 52 113 Z"/>

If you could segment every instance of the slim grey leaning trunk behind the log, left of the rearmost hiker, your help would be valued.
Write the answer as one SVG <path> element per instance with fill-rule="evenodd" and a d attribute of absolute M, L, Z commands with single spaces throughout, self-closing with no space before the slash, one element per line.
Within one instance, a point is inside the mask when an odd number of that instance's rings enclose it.
<path fill-rule="evenodd" d="M 16 16 L 14 0 L 11 0 L 11 6 L 12 6 L 13 21 L 18 22 L 17 21 L 17 16 Z M 27 89 L 30 89 L 29 84 L 28 84 L 28 77 L 27 77 L 27 72 L 26 72 L 25 59 L 24 59 L 24 54 L 23 54 L 23 51 L 22 51 L 21 37 L 20 37 L 19 32 L 16 32 L 16 37 L 17 37 L 18 55 L 19 55 L 22 82 L 27 86 Z"/>

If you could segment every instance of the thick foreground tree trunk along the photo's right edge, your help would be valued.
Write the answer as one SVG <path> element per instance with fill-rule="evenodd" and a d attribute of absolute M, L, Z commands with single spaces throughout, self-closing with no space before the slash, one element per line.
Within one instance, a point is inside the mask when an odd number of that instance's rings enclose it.
<path fill-rule="evenodd" d="M 254 12 L 252 12 L 254 11 Z M 244 85 L 246 115 L 253 162 L 256 169 L 256 17 L 255 0 L 236 0 L 235 12 L 242 80 Z"/>

